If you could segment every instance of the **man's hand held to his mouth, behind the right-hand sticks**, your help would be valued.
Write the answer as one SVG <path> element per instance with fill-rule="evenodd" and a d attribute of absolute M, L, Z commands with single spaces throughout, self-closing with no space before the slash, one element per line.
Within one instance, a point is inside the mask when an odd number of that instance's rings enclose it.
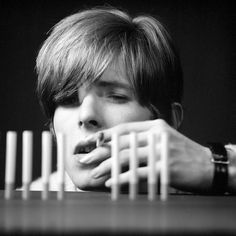
<path fill-rule="evenodd" d="M 157 171 L 159 171 L 160 136 L 162 132 L 167 132 L 169 134 L 170 186 L 191 192 L 206 192 L 210 189 L 213 178 L 210 150 L 180 134 L 161 119 L 125 123 L 104 130 L 105 146 L 94 150 L 94 153 L 91 153 L 91 158 L 87 159 L 89 164 L 99 163 L 91 172 L 93 178 L 100 178 L 110 174 L 112 164 L 110 141 L 112 133 L 118 132 L 120 135 L 120 162 L 123 170 L 120 174 L 120 181 L 121 184 L 129 182 L 129 133 L 131 131 L 137 133 L 137 158 L 141 164 L 137 171 L 140 179 L 147 178 L 148 132 L 152 131 L 155 133 Z M 96 135 L 93 136 L 93 138 L 95 137 Z M 111 186 L 111 179 L 106 181 L 106 186 Z"/>

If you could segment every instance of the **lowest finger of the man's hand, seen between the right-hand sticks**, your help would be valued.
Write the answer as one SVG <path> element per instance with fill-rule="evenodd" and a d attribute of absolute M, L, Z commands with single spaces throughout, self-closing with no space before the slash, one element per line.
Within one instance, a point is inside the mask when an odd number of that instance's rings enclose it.
<path fill-rule="evenodd" d="M 160 172 L 160 169 L 161 169 L 161 164 L 160 164 L 160 162 L 157 162 L 157 163 L 156 163 L 155 169 L 156 169 L 156 174 L 158 174 L 158 173 Z M 147 179 L 148 171 L 149 171 L 148 166 L 139 167 L 139 168 L 137 169 L 138 179 Z M 120 184 L 120 185 L 128 184 L 128 183 L 129 183 L 130 176 L 131 176 L 131 172 L 130 172 L 130 171 L 127 171 L 127 172 L 125 172 L 125 173 L 120 174 L 120 175 L 119 175 L 119 184 Z M 105 186 L 108 187 L 108 188 L 110 188 L 111 185 L 112 185 L 112 182 L 113 182 L 112 178 L 108 179 L 108 180 L 105 182 Z"/>

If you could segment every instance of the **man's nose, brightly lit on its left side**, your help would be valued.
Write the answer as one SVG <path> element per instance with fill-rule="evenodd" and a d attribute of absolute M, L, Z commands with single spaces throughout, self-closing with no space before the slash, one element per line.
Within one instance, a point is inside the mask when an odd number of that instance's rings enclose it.
<path fill-rule="evenodd" d="M 88 131 L 96 131 L 102 127 L 101 106 L 94 94 L 83 98 L 79 107 L 78 126 Z"/>

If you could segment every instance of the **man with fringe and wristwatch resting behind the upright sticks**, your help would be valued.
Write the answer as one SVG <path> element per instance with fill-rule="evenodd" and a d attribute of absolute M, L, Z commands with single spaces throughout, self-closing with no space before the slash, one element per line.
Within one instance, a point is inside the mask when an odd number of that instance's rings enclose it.
<path fill-rule="evenodd" d="M 153 17 L 132 18 L 113 8 L 68 16 L 40 49 L 37 72 L 38 95 L 51 131 L 55 137 L 61 132 L 67 137 L 71 155 L 66 172 L 76 188 L 111 186 L 113 132 L 120 135 L 120 180 L 125 186 L 128 135 L 135 131 L 140 181 L 147 180 L 148 133 L 155 133 L 158 163 L 160 135 L 167 132 L 170 186 L 190 192 L 235 192 L 235 146 L 221 145 L 230 165 L 226 161 L 219 169 L 209 147 L 177 131 L 183 119 L 181 63 L 168 32 Z M 97 147 L 100 136 L 104 143 Z"/>

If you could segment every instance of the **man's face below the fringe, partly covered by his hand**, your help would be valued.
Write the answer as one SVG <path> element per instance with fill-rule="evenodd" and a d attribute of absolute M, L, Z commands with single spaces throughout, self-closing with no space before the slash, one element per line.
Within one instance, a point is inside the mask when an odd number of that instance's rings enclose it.
<path fill-rule="evenodd" d="M 66 157 L 66 171 L 74 184 L 81 189 L 101 187 L 107 176 L 91 177 L 91 170 L 99 163 L 81 164 L 79 160 L 88 154 L 73 154 L 77 144 L 97 131 L 121 123 L 149 120 L 151 112 L 137 102 L 122 66 L 111 66 L 100 80 L 80 87 L 78 98 L 79 105 L 56 109 L 53 119 L 55 134 L 62 132 L 66 135 L 71 153 Z"/>

